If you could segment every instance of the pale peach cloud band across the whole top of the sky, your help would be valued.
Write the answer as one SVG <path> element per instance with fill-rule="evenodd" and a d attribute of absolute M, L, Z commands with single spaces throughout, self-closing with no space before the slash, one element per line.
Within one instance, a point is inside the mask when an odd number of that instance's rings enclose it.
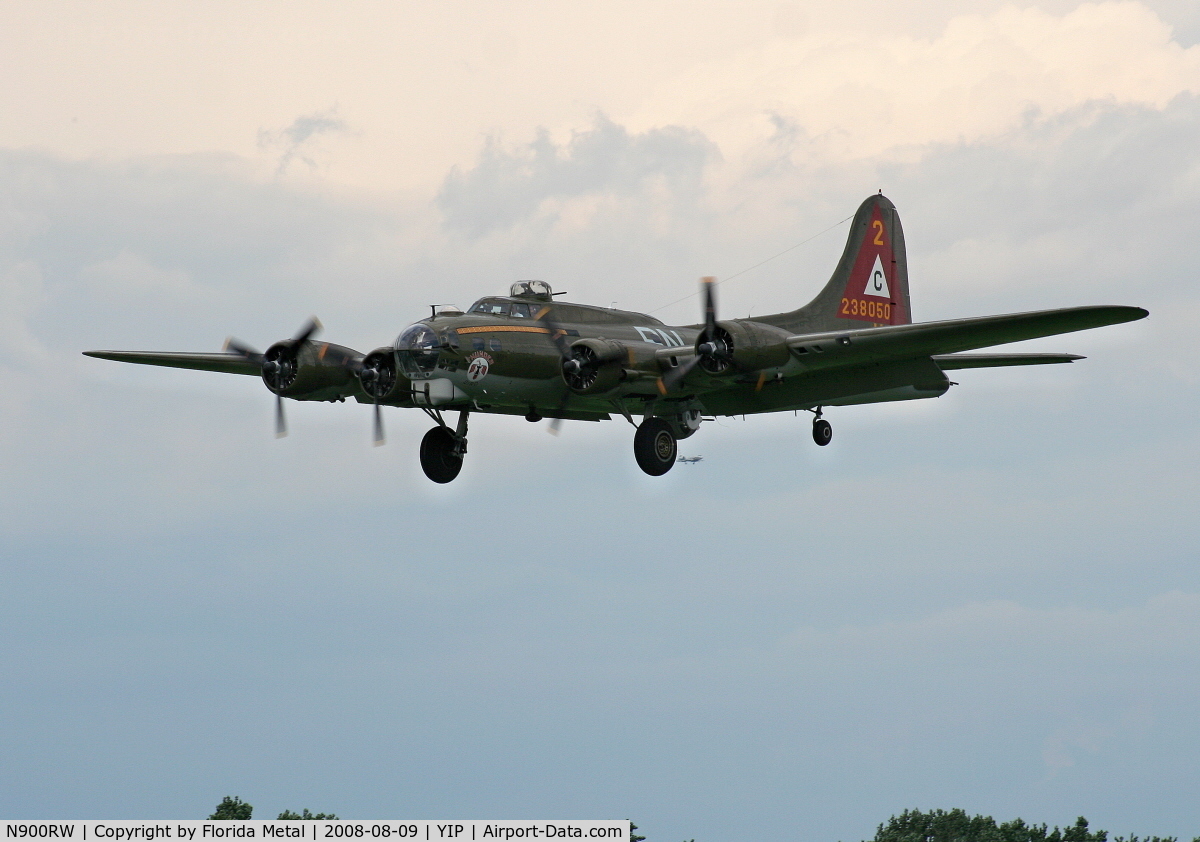
<path fill-rule="evenodd" d="M 698 128 L 732 157 L 780 116 L 800 130 L 798 157 L 845 158 L 985 137 L 1088 100 L 1162 104 L 1196 90 L 1198 72 L 1196 48 L 1170 28 L 1194 13 L 1169 19 L 1164 0 L 986 0 L 971 13 L 845 0 L 706 0 L 690 14 L 535 0 L 467 0 L 455 13 L 428 0 L 62 8 L 76 26 L 30 5 L 0 34 L 0 70 L 23 80 L 0 91 L 0 144 L 80 157 L 218 150 L 265 173 L 286 148 L 260 148 L 264 128 L 302 131 L 296 115 L 338 103 L 332 119 L 354 131 L 326 131 L 306 155 L 323 179 L 370 190 L 431 188 L 487 136 L 545 126 L 562 143 L 598 110 L 637 134 Z"/>

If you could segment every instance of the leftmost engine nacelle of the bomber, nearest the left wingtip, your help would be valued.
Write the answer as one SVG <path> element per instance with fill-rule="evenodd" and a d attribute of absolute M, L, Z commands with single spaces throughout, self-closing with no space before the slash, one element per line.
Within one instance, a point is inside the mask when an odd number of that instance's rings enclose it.
<path fill-rule="evenodd" d="M 337 401 L 356 391 L 355 372 L 361 359 L 346 345 L 284 339 L 263 354 L 263 383 L 281 397 Z"/>

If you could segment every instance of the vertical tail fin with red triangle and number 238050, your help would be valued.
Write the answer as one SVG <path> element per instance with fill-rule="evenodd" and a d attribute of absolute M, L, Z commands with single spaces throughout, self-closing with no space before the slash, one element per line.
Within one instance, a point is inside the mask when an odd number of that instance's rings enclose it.
<path fill-rule="evenodd" d="M 911 324 L 908 263 L 895 205 L 882 193 L 869 197 L 858 206 L 841 260 L 817 296 L 791 313 L 761 320 L 797 333 Z"/>

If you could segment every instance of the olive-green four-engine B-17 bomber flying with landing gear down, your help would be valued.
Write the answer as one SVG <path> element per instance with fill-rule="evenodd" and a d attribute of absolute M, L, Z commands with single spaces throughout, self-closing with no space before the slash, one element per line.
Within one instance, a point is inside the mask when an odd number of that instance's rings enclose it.
<path fill-rule="evenodd" d="M 467 453 L 472 413 L 523 415 L 528 421 L 632 423 L 634 456 L 659 476 L 676 464 L 677 441 L 708 416 L 782 410 L 814 414 L 812 438 L 829 444 L 828 407 L 938 397 L 946 372 L 990 366 L 1072 362 L 1072 354 L 971 354 L 980 348 L 1133 321 L 1140 307 L 1093 306 L 912 321 L 904 231 L 882 193 L 851 223 L 833 277 L 798 309 L 752 319 L 716 315 L 714 282 L 703 279 L 703 321 L 671 326 L 619 309 L 556 301 L 541 281 L 512 284 L 467 312 L 436 309 L 391 345 L 361 354 L 314 338 L 313 319 L 265 353 L 228 341 L 223 353 L 84 351 L 151 366 L 260 377 L 283 398 L 416 408 L 436 423 L 421 440 L 421 468 L 450 482 Z M 457 413 L 454 425 L 446 413 Z M 634 421 L 640 417 L 641 422 Z"/>

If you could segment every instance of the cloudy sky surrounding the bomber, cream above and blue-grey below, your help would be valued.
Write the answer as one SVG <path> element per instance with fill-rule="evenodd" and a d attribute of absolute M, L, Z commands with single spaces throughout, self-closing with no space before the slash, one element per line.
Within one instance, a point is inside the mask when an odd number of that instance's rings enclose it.
<path fill-rule="evenodd" d="M 0 814 L 1200 834 L 1195 2 L 0 19 Z M 529 277 L 790 309 L 877 190 L 918 320 L 1151 318 L 835 409 L 827 449 L 706 423 L 660 479 L 623 422 L 475 416 L 449 487 L 420 414 L 377 450 L 367 408 L 290 403 L 275 440 L 254 379 L 79 353 L 311 314 L 368 350 Z"/>

